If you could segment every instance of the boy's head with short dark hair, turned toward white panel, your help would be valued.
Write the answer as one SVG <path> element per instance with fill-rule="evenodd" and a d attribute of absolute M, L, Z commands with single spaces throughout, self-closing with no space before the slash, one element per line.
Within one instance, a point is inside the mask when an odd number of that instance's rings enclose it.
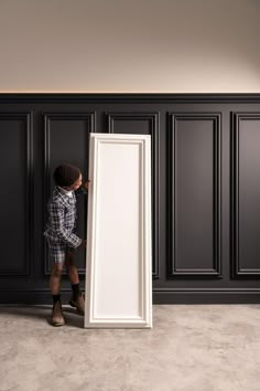
<path fill-rule="evenodd" d="M 58 166 L 54 171 L 53 178 L 57 186 L 67 190 L 76 190 L 82 184 L 79 168 L 68 163 Z"/>

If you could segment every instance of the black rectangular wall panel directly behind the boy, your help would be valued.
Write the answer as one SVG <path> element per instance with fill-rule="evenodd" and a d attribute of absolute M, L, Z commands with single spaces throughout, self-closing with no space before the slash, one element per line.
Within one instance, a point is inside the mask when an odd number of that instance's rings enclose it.
<path fill-rule="evenodd" d="M 55 186 L 54 169 L 68 162 L 78 167 L 83 173 L 83 182 L 88 176 L 88 139 L 90 131 L 95 131 L 94 113 L 50 113 L 44 115 L 45 136 L 45 190 L 44 208 L 46 221 L 46 205 Z M 80 196 L 77 200 L 78 235 L 86 236 L 87 200 Z M 76 262 L 80 274 L 85 274 L 84 251 L 76 252 Z M 45 243 L 44 270 L 51 272 L 51 261 Z"/>

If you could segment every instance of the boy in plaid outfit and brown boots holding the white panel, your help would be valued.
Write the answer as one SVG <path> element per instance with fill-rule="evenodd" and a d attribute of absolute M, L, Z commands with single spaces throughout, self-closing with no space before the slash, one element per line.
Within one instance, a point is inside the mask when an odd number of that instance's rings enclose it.
<path fill-rule="evenodd" d="M 48 202 L 48 221 L 44 235 L 48 242 L 50 256 L 53 268 L 50 278 L 50 288 L 53 295 L 52 325 L 63 326 L 65 319 L 61 303 L 61 281 L 64 264 L 72 284 L 73 296 L 71 306 L 76 307 L 84 315 L 84 296 L 79 290 L 79 278 L 75 264 L 75 249 L 84 249 L 86 240 L 76 234 L 76 197 L 75 191 L 82 186 L 82 172 L 77 167 L 64 163 L 54 171 L 55 189 Z M 88 188 L 88 181 L 85 183 Z"/>

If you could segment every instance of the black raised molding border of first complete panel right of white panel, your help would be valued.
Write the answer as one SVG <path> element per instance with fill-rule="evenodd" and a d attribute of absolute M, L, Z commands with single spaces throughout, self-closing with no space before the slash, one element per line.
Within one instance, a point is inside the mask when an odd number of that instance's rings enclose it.
<path fill-rule="evenodd" d="M 167 219 L 167 276 L 169 277 L 194 277 L 194 278 L 205 278 L 205 277 L 221 277 L 221 243 L 220 243 L 220 198 L 221 198 L 221 115 L 220 113 L 167 113 L 169 116 L 169 183 L 172 186 L 167 191 L 167 208 L 169 208 L 169 219 Z M 191 268 L 182 271 L 176 267 L 176 230 L 175 230 L 175 210 L 176 210 L 176 171 L 175 171 L 175 135 L 176 135 L 176 121 L 178 119 L 196 120 L 196 119 L 212 119 L 213 120 L 213 131 L 214 131 L 214 154 L 213 154 L 213 170 L 214 170 L 214 268 Z M 170 236 L 171 235 L 171 236 Z"/>

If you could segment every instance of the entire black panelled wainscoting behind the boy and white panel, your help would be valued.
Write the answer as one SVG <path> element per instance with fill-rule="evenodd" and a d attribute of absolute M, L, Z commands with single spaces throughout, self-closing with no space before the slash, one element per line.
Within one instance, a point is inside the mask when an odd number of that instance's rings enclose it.
<path fill-rule="evenodd" d="M 52 172 L 68 161 L 87 179 L 90 133 L 151 135 L 153 303 L 260 303 L 253 94 L 0 94 L 0 303 L 51 303 Z M 82 236 L 86 218 L 82 198 Z M 77 264 L 84 288 L 84 251 Z"/>

